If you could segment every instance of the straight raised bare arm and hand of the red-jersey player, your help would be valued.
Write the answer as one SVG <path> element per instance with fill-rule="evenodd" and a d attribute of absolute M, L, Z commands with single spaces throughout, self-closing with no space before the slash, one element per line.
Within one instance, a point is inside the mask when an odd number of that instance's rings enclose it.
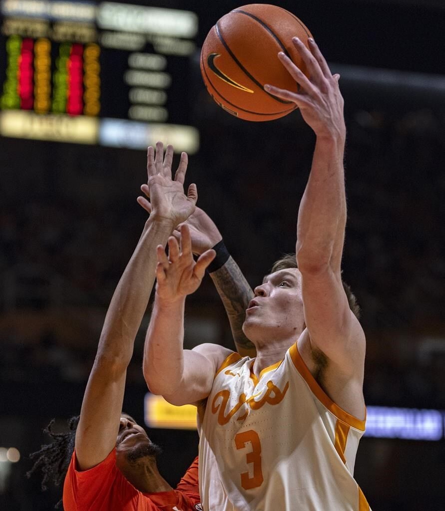
<path fill-rule="evenodd" d="M 148 148 L 148 188 L 152 212 L 110 302 L 96 359 L 83 397 L 76 432 L 76 455 L 81 470 L 103 461 L 116 444 L 127 366 L 147 307 L 157 265 L 156 247 L 164 246 L 177 224 L 194 210 L 196 189 L 184 195 L 187 155 L 183 153 L 175 180 L 171 179 L 173 148 Z M 138 202 L 145 199 L 140 197 Z"/>

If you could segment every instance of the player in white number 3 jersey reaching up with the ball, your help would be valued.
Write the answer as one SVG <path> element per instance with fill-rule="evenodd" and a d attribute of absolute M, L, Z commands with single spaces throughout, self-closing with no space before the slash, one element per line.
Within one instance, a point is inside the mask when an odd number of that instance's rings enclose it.
<path fill-rule="evenodd" d="M 369 510 L 352 476 L 365 429 L 365 337 L 341 278 L 343 98 L 317 44 L 293 43 L 310 79 L 280 53 L 300 92 L 264 88 L 297 104 L 316 145 L 296 258 L 278 262 L 246 310 L 243 332 L 256 358 L 215 344 L 183 350 L 185 297 L 201 282 L 189 227 L 181 227 L 181 246 L 169 238 L 168 258 L 158 246 L 144 375 L 173 404 L 207 399 L 199 450 L 206 511 Z"/>

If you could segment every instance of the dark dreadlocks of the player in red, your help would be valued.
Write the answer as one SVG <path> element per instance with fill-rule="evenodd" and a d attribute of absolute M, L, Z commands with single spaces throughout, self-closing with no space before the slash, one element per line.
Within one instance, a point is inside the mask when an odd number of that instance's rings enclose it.
<path fill-rule="evenodd" d="M 76 439 L 76 429 L 79 424 L 79 415 L 75 415 L 68 420 L 69 431 L 66 433 L 55 433 L 53 431 L 53 419 L 50 424 L 43 430 L 48 433 L 53 439 L 53 442 L 48 445 L 42 445 L 39 451 L 33 452 L 29 455 L 31 459 L 37 458 L 32 469 L 27 472 L 27 477 L 38 469 L 41 468 L 43 478 L 41 488 L 43 491 L 47 490 L 47 482 L 52 481 L 58 486 L 64 479 L 68 467 L 70 465 L 71 456 L 74 451 L 74 443 Z M 56 504 L 59 506 L 61 501 Z"/>

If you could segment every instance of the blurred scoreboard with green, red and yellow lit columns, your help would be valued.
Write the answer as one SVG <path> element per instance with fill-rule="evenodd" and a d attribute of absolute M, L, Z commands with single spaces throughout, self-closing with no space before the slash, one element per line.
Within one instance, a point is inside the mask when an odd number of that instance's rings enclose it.
<path fill-rule="evenodd" d="M 65 0 L 2 0 L 0 134 L 194 153 L 190 11 Z"/>

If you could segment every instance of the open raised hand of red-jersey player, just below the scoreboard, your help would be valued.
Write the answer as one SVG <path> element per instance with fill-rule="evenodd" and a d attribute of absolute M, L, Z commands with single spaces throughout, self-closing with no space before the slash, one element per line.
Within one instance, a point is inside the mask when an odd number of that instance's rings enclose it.
<path fill-rule="evenodd" d="M 184 179 L 187 171 L 187 153 L 181 154 L 179 166 L 171 177 L 173 146 L 168 145 L 164 157 L 164 145 L 156 144 L 147 150 L 147 184 L 141 186 L 145 197 L 138 197 L 138 203 L 150 216 L 160 221 L 168 221 L 172 227 L 184 222 L 195 210 L 198 198 L 196 185 L 190 184 L 187 195 L 184 194 Z"/>

